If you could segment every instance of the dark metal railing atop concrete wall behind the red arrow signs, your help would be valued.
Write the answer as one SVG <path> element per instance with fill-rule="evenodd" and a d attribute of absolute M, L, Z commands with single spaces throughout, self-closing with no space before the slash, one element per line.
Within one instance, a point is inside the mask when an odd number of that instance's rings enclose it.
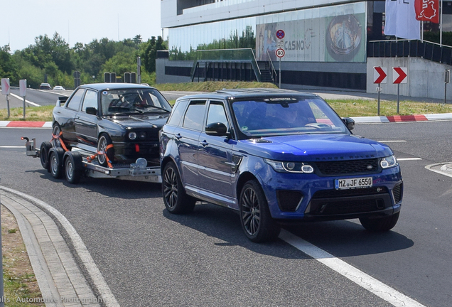
<path fill-rule="evenodd" d="M 452 65 L 452 47 L 428 41 L 370 41 L 367 58 L 417 57 Z"/>

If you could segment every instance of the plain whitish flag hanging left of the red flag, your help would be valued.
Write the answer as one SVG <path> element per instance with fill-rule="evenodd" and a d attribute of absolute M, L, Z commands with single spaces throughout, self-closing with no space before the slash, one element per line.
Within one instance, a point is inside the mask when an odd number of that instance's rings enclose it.
<path fill-rule="evenodd" d="M 421 39 L 414 0 L 386 0 L 384 34 L 405 39 Z"/>

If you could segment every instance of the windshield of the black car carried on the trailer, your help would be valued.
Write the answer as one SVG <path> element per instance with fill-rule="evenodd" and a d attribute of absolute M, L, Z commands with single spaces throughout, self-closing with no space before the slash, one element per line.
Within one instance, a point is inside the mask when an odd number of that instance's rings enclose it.
<path fill-rule="evenodd" d="M 104 115 L 171 112 L 170 104 L 154 89 L 104 90 L 101 104 Z"/>

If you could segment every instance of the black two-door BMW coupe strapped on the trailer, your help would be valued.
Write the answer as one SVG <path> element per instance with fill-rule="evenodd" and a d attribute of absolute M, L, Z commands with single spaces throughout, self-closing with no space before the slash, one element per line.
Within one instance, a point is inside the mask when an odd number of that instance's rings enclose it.
<path fill-rule="evenodd" d="M 60 97 L 53 109 L 53 146 L 97 154 L 97 161 L 131 163 L 146 158 L 158 166 L 158 131 L 171 105 L 154 87 L 96 83 Z M 107 159 L 108 158 L 108 159 Z"/>

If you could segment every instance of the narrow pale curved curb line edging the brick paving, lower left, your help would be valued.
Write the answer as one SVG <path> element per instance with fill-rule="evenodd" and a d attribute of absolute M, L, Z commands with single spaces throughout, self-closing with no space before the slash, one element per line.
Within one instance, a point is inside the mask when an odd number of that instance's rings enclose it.
<path fill-rule="evenodd" d="M 56 210 L 51 205 L 48 205 L 48 203 L 44 203 L 42 200 L 33 198 L 33 196 L 30 196 L 28 194 L 21 193 L 17 190 L 6 188 L 1 185 L 0 189 L 6 190 L 9 193 L 19 195 L 21 198 L 26 198 L 32 203 L 35 203 L 39 207 L 44 208 L 45 210 L 48 210 L 48 212 L 53 214 L 53 216 L 56 217 L 60 224 L 65 228 L 66 232 L 68 232 L 68 235 L 72 240 L 73 247 L 80 257 L 80 260 L 83 262 L 83 264 L 85 264 L 85 268 L 87 269 L 88 274 L 90 274 L 92 282 L 95 284 L 100 296 L 102 296 L 102 301 L 104 301 L 105 306 L 119 307 L 119 303 L 114 297 L 112 290 L 109 289 L 104 276 L 102 276 L 102 273 L 100 273 L 99 268 L 95 264 L 94 259 L 92 259 L 90 252 L 88 251 L 85 243 L 83 243 L 82 241 L 82 238 L 77 233 L 77 230 L 75 230 L 75 228 L 70 224 L 68 219 L 60 213 L 60 211 Z"/>

